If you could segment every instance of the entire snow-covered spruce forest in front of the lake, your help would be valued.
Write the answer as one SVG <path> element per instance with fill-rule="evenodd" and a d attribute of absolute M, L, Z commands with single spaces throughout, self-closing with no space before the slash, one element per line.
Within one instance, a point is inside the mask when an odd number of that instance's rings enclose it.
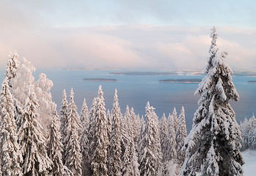
<path fill-rule="evenodd" d="M 229 100 L 239 95 L 226 52 L 211 46 L 191 131 L 185 109 L 158 117 L 145 103 L 141 117 L 127 106 L 121 113 L 117 89 L 106 110 L 103 89 L 78 113 L 75 93 L 63 90 L 60 111 L 51 98 L 53 82 L 10 54 L 1 84 L 0 175 L 243 175 L 241 150 L 256 148 L 256 119 L 239 126 Z"/>

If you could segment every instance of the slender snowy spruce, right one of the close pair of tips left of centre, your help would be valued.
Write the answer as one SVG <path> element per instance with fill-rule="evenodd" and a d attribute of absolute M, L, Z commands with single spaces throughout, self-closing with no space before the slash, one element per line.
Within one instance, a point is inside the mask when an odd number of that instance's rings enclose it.
<path fill-rule="evenodd" d="M 64 148 L 65 152 L 65 166 L 73 172 L 73 175 L 80 176 L 81 171 L 81 149 L 79 142 L 79 129 L 81 129 L 80 125 L 80 117 L 76 111 L 76 104 L 74 102 L 74 92 L 73 89 L 70 91 L 70 104 L 68 105 L 67 111 L 67 126 L 66 126 L 66 134 L 65 136 L 65 144 Z"/>

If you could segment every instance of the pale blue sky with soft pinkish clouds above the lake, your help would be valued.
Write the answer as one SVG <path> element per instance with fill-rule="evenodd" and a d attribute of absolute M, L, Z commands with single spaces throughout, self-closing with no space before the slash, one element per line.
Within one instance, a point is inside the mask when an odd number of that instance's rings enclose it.
<path fill-rule="evenodd" d="M 216 26 L 235 70 L 256 69 L 254 0 L 0 0 L 0 66 L 204 70 Z"/>

